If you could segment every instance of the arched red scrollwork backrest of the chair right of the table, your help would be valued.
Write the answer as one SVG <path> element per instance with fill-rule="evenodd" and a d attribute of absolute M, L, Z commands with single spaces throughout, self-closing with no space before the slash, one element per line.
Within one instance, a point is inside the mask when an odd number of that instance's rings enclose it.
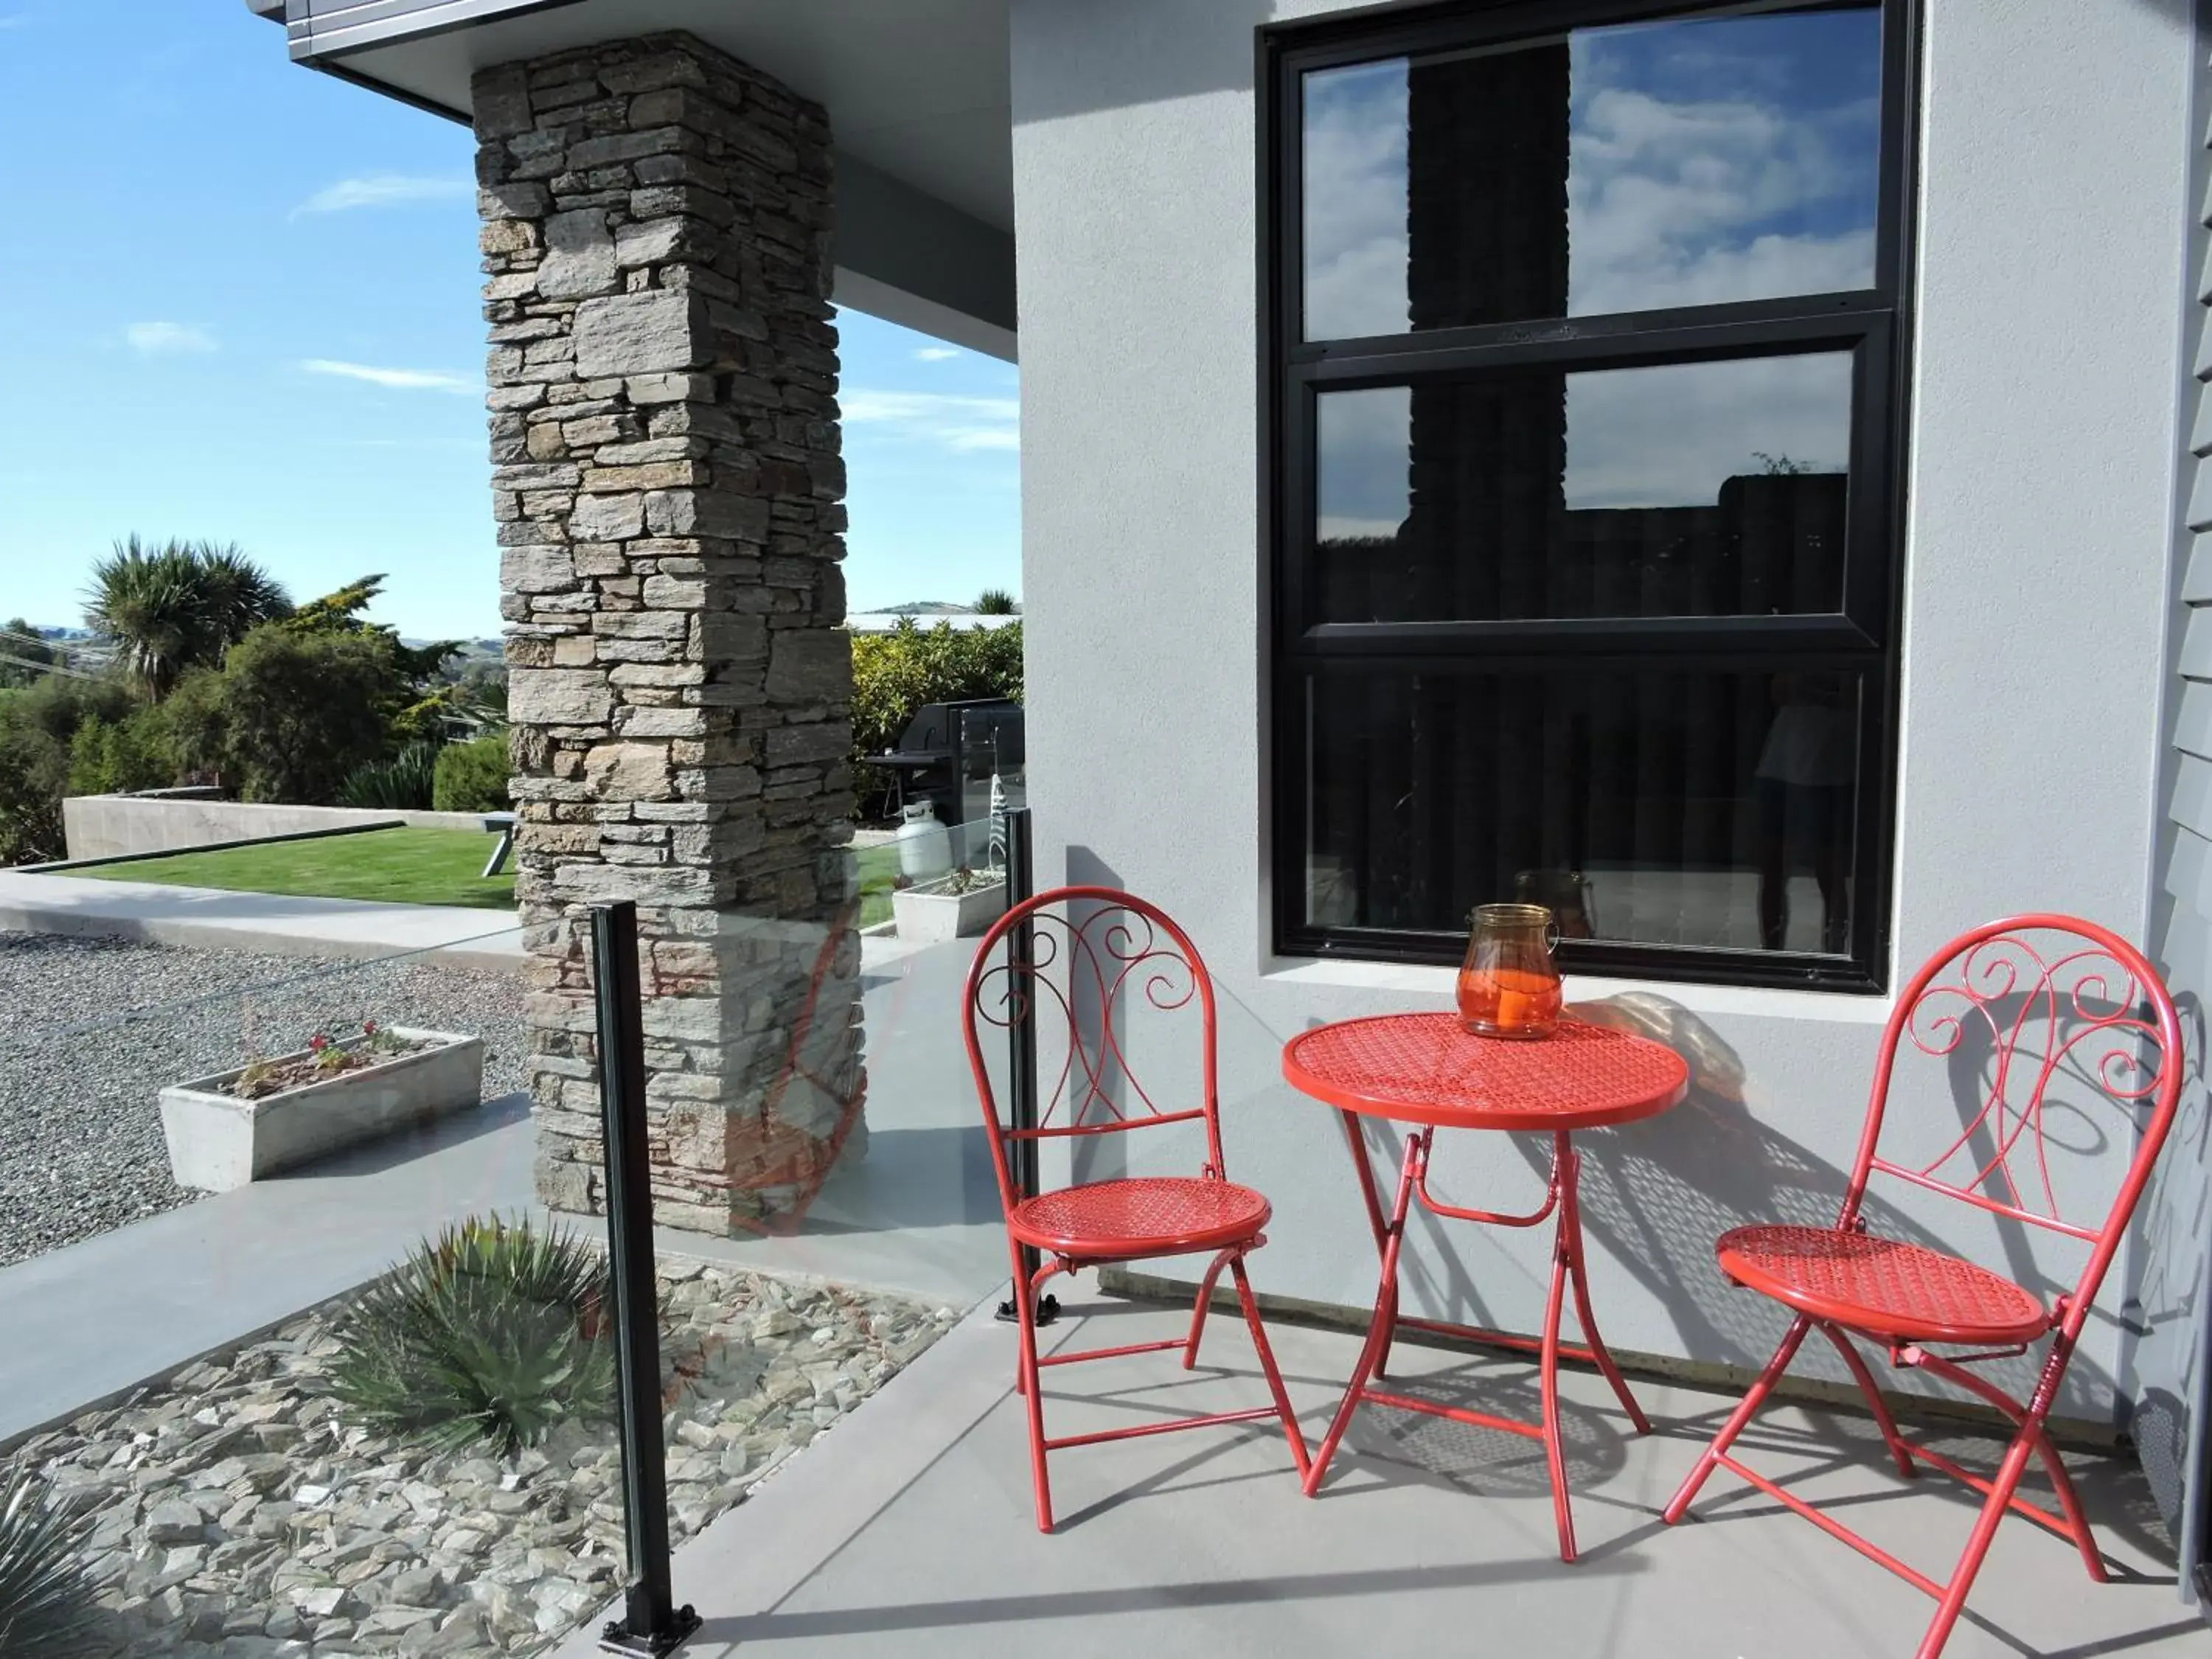
<path fill-rule="evenodd" d="M 1953 1093 L 1973 1064 L 1955 1139 L 1933 1159 L 1882 1157 L 1889 1088 L 1902 1051 L 1951 1062 Z M 2079 1321 L 2143 1194 L 2172 1128 L 2183 1077 L 2181 1018 L 2157 969 L 2124 938 L 2073 916 L 2013 916 L 1944 945 L 1889 1015 L 1867 1128 L 1838 1225 L 1856 1225 L 1871 1175 L 1885 1175 L 2033 1228 L 2081 1239 L 2088 1265 L 2066 1307 Z M 2066 1099 L 2053 1088 L 2066 1084 Z M 2101 1214 L 2059 1212 L 2051 1117 L 2077 1121 L 2079 1095 L 2115 1108 L 2137 1130 L 2128 1172 Z"/>

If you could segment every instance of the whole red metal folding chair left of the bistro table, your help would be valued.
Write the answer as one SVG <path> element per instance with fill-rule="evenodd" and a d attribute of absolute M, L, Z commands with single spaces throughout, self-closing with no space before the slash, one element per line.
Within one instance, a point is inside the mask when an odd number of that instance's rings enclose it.
<path fill-rule="evenodd" d="M 1000 960 L 1000 947 L 1006 947 Z M 1190 1095 L 1155 1097 L 1137 1079 L 1128 1057 L 1126 1013 L 1137 1004 L 1172 1015 L 1192 1009 L 1199 1015 L 1197 1104 Z M 1053 1489 L 1044 1473 L 1044 1455 L 1066 1447 L 1088 1447 L 1104 1440 L 1128 1440 L 1170 1429 L 1201 1429 L 1219 1422 L 1252 1422 L 1281 1418 L 1290 1438 L 1290 1455 L 1305 1478 L 1305 1436 L 1283 1391 L 1283 1374 L 1267 1347 L 1252 1283 L 1245 1279 L 1245 1256 L 1267 1243 L 1270 1206 L 1248 1186 L 1237 1186 L 1221 1161 L 1221 1108 L 1214 1091 L 1214 984 L 1199 960 L 1197 947 L 1157 907 L 1113 887 L 1060 887 L 1037 894 L 1009 909 L 984 933 L 969 969 L 962 1000 L 969 1066 L 975 1071 L 975 1093 L 982 1099 L 984 1124 L 991 1130 L 991 1164 L 998 1170 L 998 1192 L 1006 1206 L 1006 1245 L 1013 1254 L 1013 1305 L 1022 1327 L 1022 1358 L 1015 1387 L 1029 1398 L 1029 1455 L 1037 1486 L 1037 1531 L 1053 1531 Z M 978 1040 L 978 1020 L 1009 1026 L 1029 1020 L 1044 1037 L 1044 1026 L 1066 1026 L 1066 1053 L 1055 1055 L 1057 1079 L 1042 1088 L 1033 1126 L 1011 1126 L 1000 1115 L 991 1073 Z M 1051 1053 L 1048 1046 L 1042 1048 Z M 1139 1177 L 1093 1181 L 1057 1192 L 1022 1197 L 1013 1179 L 1013 1148 L 1024 1141 L 1128 1135 L 1166 1124 L 1206 1124 L 1206 1168 L 1194 1177 Z M 1042 1261 L 1029 1274 L 1022 1252 L 1035 1250 Z M 1079 1354 L 1037 1354 L 1037 1296 L 1055 1274 L 1104 1267 L 1124 1261 L 1150 1261 L 1214 1252 L 1199 1298 L 1190 1312 L 1190 1334 L 1168 1343 L 1130 1343 Z M 1214 1411 L 1201 1418 L 1144 1422 L 1130 1429 L 1077 1433 L 1064 1440 L 1044 1436 L 1044 1396 L 1037 1371 L 1046 1365 L 1075 1365 L 1121 1354 L 1183 1352 L 1183 1369 L 1199 1363 L 1199 1336 L 1214 1281 L 1228 1267 L 1237 1281 L 1252 1347 L 1267 1374 L 1272 1407 L 1252 1411 Z M 1026 1285 L 1024 1285 L 1026 1279 Z"/>

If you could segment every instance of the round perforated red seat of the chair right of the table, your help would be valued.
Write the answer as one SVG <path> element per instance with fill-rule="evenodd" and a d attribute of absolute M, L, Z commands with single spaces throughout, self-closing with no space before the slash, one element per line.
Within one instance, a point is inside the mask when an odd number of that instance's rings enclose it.
<path fill-rule="evenodd" d="M 2028 1343 L 2051 1310 L 2011 1279 L 1940 1250 L 1834 1228 L 1736 1228 L 1721 1272 L 1814 1318 L 1900 1343 Z"/>

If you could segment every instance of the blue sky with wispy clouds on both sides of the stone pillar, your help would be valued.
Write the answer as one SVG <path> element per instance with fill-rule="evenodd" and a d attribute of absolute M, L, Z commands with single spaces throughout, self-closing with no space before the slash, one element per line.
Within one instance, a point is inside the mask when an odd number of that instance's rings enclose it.
<path fill-rule="evenodd" d="M 498 633 L 473 142 L 285 60 L 241 0 L 0 0 L 0 619 L 111 542 Z M 1020 588 L 1015 369 L 841 316 L 856 611 Z"/>

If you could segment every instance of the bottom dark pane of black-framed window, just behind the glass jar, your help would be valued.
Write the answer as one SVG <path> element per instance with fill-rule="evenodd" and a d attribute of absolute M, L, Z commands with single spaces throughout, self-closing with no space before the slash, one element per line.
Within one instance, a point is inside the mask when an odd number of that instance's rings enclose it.
<path fill-rule="evenodd" d="M 1329 670 L 1307 681 L 1305 920 L 1840 956 L 1858 675 Z"/>

